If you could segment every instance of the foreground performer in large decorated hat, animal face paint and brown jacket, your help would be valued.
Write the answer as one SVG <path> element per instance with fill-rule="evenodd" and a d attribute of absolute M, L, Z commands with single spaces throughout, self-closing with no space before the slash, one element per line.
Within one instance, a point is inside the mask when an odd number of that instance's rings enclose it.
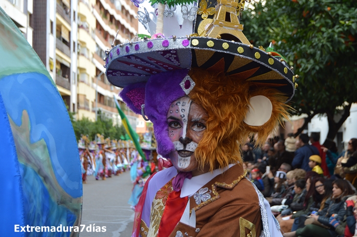
<path fill-rule="evenodd" d="M 240 147 L 254 133 L 263 145 L 288 119 L 295 76 L 272 47 L 245 38 L 239 2 L 219 1 L 213 19 L 197 11 L 195 22 L 175 31 L 184 37 L 160 31 L 107 54 L 108 80 L 153 123 L 157 152 L 173 165 L 146 182 L 133 237 L 282 236 L 268 201 L 245 177 Z M 166 19 L 166 29 L 175 28 Z"/>

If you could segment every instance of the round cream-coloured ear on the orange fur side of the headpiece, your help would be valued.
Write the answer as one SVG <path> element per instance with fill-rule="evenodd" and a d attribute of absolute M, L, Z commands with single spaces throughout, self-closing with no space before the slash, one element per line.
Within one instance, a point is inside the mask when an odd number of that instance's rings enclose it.
<path fill-rule="evenodd" d="M 249 100 L 248 111 L 243 121 L 250 126 L 262 126 L 270 119 L 272 110 L 273 106 L 267 97 L 253 96 Z"/>

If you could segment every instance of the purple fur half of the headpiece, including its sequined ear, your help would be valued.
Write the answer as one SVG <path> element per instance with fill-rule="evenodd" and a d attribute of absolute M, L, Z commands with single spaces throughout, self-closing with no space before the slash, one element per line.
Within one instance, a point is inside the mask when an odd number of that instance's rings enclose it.
<path fill-rule="evenodd" d="M 187 73 L 188 69 L 158 73 L 148 82 L 131 84 L 120 92 L 123 101 L 137 114 L 141 114 L 141 105 L 145 104 L 145 115 L 154 124 L 157 152 L 166 158 L 175 150 L 169 138 L 167 111 L 174 101 L 186 95 L 180 83 Z"/>

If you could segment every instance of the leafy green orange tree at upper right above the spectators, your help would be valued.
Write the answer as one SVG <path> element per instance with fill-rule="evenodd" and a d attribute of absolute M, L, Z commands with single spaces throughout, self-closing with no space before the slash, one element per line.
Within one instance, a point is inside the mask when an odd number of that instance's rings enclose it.
<path fill-rule="evenodd" d="M 297 136 L 316 114 L 326 114 L 327 139 L 350 115 L 357 102 L 355 0 L 267 0 L 243 13 L 244 33 L 254 45 L 269 42 L 300 77 L 291 100 L 294 114 L 307 114 Z"/>

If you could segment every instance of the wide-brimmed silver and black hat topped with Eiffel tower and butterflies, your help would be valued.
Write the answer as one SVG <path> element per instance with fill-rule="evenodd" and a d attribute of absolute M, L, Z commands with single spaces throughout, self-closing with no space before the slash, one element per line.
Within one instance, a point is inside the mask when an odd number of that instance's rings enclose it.
<path fill-rule="evenodd" d="M 284 57 L 271 46 L 253 46 L 243 34 L 240 15 L 245 0 L 153 6 L 140 6 L 138 11 L 139 22 L 153 34 L 151 38 L 135 37 L 107 51 L 106 75 L 114 86 L 147 82 L 150 76 L 166 71 L 200 67 L 224 71 L 252 86 L 274 87 L 287 96 L 287 101 L 294 95 L 297 76 Z"/>

